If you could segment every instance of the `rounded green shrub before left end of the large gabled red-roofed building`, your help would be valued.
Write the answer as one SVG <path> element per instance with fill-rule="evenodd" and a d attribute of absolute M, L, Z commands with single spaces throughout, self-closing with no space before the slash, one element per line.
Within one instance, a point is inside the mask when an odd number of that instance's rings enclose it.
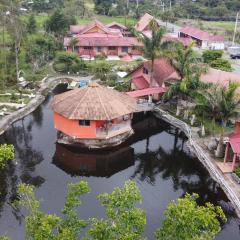
<path fill-rule="evenodd" d="M 58 52 L 54 62 L 54 69 L 58 72 L 77 73 L 86 68 L 85 63 L 76 54 Z"/>

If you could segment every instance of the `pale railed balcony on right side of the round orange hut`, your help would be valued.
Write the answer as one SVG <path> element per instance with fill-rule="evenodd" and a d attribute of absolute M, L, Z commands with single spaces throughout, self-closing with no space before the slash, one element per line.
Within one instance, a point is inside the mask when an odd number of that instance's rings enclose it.
<path fill-rule="evenodd" d="M 131 120 L 123 121 L 118 124 L 111 124 L 107 128 L 97 128 L 96 138 L 97 139 L 109 139 L 117 135 L 130 132 L 132 130 Z"/>

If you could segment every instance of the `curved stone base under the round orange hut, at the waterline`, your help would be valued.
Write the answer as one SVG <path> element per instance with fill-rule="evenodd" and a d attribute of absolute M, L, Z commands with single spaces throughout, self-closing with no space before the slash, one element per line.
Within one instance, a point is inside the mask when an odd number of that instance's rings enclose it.
<path fill-rule="evenodd" d="M 65 135 L 64 133 L 58 132 L 57 142 L 65 145 L 75 145 L 81 148 L 103 149 L 120 145 L 121 143 L 126 141 L 133 133 L 134 131 L 131 129 L 127 132 L 107 139 L 79 139 L 72 138 Z"/>

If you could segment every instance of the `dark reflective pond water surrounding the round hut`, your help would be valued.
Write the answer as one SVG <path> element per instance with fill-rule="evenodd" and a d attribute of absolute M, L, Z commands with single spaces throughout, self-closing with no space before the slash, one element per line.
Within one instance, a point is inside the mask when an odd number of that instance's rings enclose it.
<path fill-rule="evenodd" d="M 53 94 L 64 90 L 57 87 Z M 218 240 L 240 239 L 239 220 L 221 188 L 209 176 L 199 161 L 191 156 L 184 136 L 177 129 L 153 116 L 137 115 L 136 134 L 123 146 L 102 152 L 83 152 L 56 144 L 53 114 L 49 108 L 52 96 L 35 112 L 13 124 L 0 141 L 14 144 L 16 159 L 0 174 L 0 235 L 14 240 L 24 239 L 24 215 L 11 207 L 19 182 L 36 186 L 42 199 L 42 209 L 59 213 L 66 185 L 87 180 L 92 192 L 83 197 L 82 218 L 104 216 L 96 200 L 102 192 L 111 192 L 127 179 L 137 182 L 147 213 L 145 235 L 153 239 L 162 222 L 167 204 L 184 193 L 196 192 L 199 203 L 210 201 L 223 207 L 228 222 Z"/>

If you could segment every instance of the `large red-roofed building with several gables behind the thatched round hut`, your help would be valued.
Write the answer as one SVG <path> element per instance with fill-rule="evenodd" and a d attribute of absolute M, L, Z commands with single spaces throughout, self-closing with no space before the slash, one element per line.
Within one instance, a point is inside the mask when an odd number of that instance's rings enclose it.
<path fill-rule="evenodd" d="M 98 54 L 106 56 L 139 56 L 137 47 L 141 46 L 135 37 L 124 36 L 127 28 L 118 23 L 104 25 L 95 20 L 87 25 L 70 26 L 71 37 L 64 38 L 64 47 L 81 57 L 94 58 Z M 71 46 L 72 39 L 77 39 Z"/>

